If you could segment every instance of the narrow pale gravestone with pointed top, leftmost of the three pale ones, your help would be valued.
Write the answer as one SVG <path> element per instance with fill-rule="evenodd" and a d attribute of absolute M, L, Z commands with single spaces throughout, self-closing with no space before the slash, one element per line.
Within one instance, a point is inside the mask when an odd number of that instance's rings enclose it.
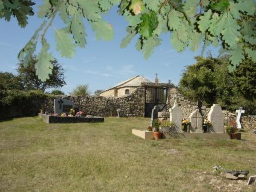
<path fill-rule="evenodd" d="M 177 96 L 175 97 L 174 106 L 169 110 L 170 112 L 170 121 L 175 123 L 175 129 L 178 132 L 181 131 L 182 124 L 182 109 L 178 106 Z"/>

